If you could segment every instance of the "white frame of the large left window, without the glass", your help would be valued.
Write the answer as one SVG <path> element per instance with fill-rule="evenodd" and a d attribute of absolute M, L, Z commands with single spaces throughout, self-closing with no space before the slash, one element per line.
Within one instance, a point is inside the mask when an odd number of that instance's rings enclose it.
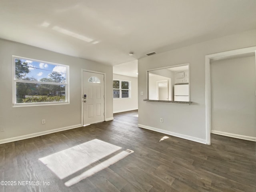
<path fill-rule="evenodd" d="M 56 66 L 64 66 L 66 67 L 66 80 L 65 83 L 56 83 L 56 82 L 40 82 L 40 81 L 26 81 L 26 80 L 16 80 L 15 79 L 15 59 L 26 59 L 31 60 L 35 62 L 42 62 L 46 64 L 52 64 Z M 38 102 L 38 103 L 17 103 L 16 98 L 16 84 L 17 82 L 20 83 L 34 83 L 34 84 L 50 84 L 50 85 L 65 85 L 65 99 L 66 101 L 63 102 Z M 13 107 L 21 107 L 21 106 L 42 106 L 42 105 L 63 105 L 63 104 L 69 104 L 69 66 L 48 62 L 48 61 L 42 61 L 42 60 L 36 60 L 31 58 L 25 58 L 21 56 L 12 56 L 12 106 Z"/>

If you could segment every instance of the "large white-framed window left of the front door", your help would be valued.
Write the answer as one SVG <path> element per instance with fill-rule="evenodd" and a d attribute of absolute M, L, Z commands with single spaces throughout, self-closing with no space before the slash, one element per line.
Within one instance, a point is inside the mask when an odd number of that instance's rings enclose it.
<path fill-rule="evenodd" d="M 13 56 L 14 106 L 68 103 L 69 66 Z"/>

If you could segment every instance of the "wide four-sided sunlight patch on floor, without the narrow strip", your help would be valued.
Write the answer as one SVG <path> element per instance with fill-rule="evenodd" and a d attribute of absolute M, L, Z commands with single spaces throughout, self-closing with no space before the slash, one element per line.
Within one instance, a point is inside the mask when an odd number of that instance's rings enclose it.
<path fill-rule="evenodd" d="M 120 149 L 119 146 L 94 139 L 39 160 L 63 179 Z"/>

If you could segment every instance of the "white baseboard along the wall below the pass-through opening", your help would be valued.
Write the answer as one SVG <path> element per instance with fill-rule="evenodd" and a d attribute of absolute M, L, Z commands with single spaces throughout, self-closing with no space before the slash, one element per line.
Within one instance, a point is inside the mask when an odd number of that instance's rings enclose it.
<path fill-rule="evenodd" d="M 179 134 L 179 133 L 175 133 L 175 132 L 171 132 L 171 131 L 166 131 L 166 130 L 163 130 L 163 129 L 158 129 L 158 128 L 154 128 L 154 127 L 150 127 L 150 126 L 146 126 L 146 125 L 142 125 L 142 124 L 138 124 L 138 127 L 148 129 L 148 130 L 152 130 L 152 131 L 156 131 L 156 132 L 160 132 L 160 133 L 164 133 L 164 134 L 168 134 L 168 135 L 183 138 L 183 139 L 187 139 L 187 140 L 191 140 L 191 141 L 195 141 L 195 142 L 202 143 L 202 144 L 207 144 L 206 140 L 196 138 L 196 137 L 192 137 L 192 136 L 188 136 L 188 135 L 183 135 L 183 134 Z"/>

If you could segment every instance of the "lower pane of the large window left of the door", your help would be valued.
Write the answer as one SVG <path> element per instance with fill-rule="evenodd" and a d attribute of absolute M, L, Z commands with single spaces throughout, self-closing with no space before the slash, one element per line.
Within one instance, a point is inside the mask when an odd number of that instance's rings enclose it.
<path fill-rule="evenodd" d="M 16 83 L 17 103 L 65 102 L 66 86 L 35 83 Z"/>

